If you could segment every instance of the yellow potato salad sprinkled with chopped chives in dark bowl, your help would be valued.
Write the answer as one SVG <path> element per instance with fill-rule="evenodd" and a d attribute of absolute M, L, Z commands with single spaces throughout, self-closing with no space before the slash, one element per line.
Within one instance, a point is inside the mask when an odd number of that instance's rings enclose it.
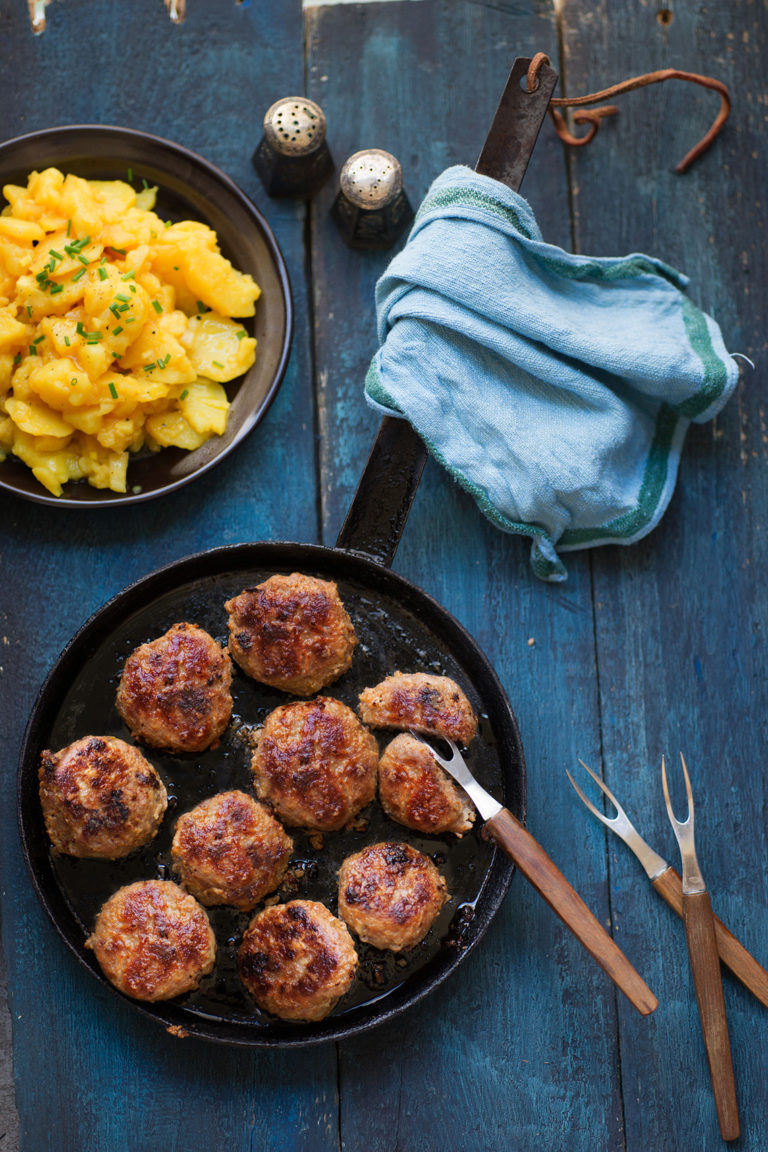
<path fill-rule="evenodd" d="M 223 385 L 254 361 L 236 318 L 258 285 L 206 225 L 160 219 L 155 194 L 56 168 L 3 188 L 0 458 L 53 495 L 82 478 L 126 492 L 131 453 L 221 434 Z"/>

